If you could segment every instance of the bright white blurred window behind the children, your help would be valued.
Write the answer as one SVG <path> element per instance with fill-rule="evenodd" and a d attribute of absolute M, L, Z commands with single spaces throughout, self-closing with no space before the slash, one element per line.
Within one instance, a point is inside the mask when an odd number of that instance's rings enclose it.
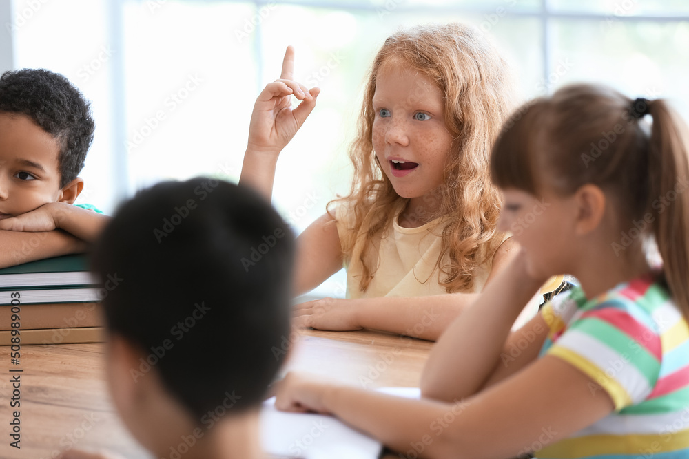
<path fill-rule="evenodd" d="M 296 79 L 322 88 L 276 174 L 273 202 L 299 233 L 349 189 L 347 147 L 382 41 L 441 21 L 489 36 L 524 100 L 595 81 L 669 98 L 689 118 L 686 0 L 0 0 L 0 71 L 47 68 L 92 101 L 79 201 L 112 213 L 161 180 L 238 181 L 254 100 L 294 45 Z M 343 282 L 318 295 L 341 296 Z"/>

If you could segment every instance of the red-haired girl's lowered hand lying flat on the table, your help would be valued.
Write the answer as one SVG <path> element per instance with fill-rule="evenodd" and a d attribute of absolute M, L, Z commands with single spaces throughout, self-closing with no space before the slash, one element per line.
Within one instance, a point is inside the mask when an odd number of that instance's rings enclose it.
<path fill-rule="evenodd" d="M 323 298 L 301 303 L 294 306 L 292 319 L 297 327 L 317 330 L 346 332 L 362 328 L 356 319 L 355 299 Z"/>

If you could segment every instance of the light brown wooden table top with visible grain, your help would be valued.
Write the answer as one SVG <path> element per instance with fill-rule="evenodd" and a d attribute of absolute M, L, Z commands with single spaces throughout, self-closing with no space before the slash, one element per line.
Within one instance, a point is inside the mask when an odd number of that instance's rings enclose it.
<path fill-rule="evenodd" d="M 289 339 L 287 370 L 322 374 L 360 387 L 417 387 L 432 343 L 369 330 L 302 330 Z M 121 424 L 107 393 L 103 344 L 21 348 L 21 449 L 9 446 L 10 348 L 0 347 L 0 458 L 52 459 L 58 451 L 103 448 L 149 459 Z M 394 458 L 396 456 L 386 456 Z"/>

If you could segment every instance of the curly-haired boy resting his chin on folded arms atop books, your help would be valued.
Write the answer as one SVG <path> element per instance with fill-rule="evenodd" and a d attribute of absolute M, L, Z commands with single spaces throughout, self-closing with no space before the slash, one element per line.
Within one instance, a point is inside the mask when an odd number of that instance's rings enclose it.
<path fill-rule="evenodd" d="M 90 105 L 64 76 L 0 77 L 0 267 L 83 251 L 99 235 L 107 217 L 72 205 L 93 134 Z"/>

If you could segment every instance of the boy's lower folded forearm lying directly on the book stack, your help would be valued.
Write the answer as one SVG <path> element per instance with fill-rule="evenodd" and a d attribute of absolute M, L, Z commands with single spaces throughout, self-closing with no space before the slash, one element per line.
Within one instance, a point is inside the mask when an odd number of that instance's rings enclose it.
<path fill-rule="evenodd" d="M 86 243 L 64 231 L 24 233 L 0 230 L 0 268 L 69 253 L 82 253 Z"/>

